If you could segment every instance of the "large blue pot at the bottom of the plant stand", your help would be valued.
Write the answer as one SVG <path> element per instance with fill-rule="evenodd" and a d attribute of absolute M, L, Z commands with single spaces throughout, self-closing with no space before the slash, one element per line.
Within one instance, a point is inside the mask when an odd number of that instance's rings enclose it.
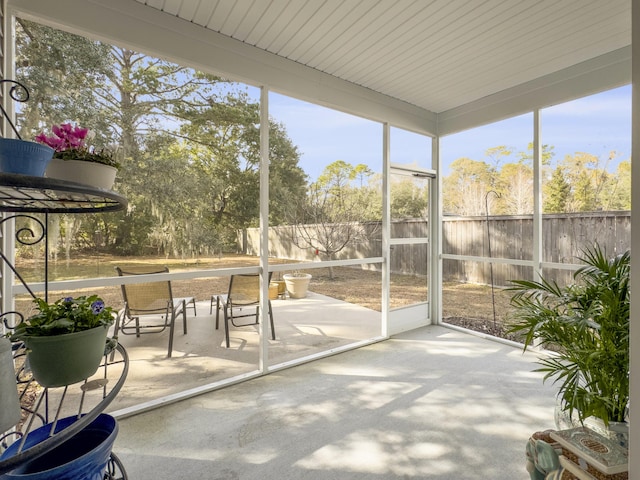
<path fill-rule="evenodd" d="M 74 423 L 77 417 L 58 420 L 56 432 Z M 28 449 L 49 437 L 51 425 L 29 433 L 24 449 Z M 111 415 L 102 413 L 66 442 L 44 455 L 27 462 L 11 472 L 1 475 L 1 480 L 103 480 L 111 448 L 118 434 L 118 423 Z M 13 443 L 0 459 L 14 455 L 20 440 Z"/>

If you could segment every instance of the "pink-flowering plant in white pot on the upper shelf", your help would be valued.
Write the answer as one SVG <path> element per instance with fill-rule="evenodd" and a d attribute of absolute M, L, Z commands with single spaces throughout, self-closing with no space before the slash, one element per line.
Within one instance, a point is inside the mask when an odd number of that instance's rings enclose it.
<path fill-rule="evenodd" d="M 37 142 L 54 149 L 53 159 L 45 171 L 47 177 L 104 190 L 113 187 L 120 164 L 112 152 L 87 145 L 93 132 L 70 123 L 53 125 L 51 131 L 52 136 L 41 133 L 35 137 Z"/>

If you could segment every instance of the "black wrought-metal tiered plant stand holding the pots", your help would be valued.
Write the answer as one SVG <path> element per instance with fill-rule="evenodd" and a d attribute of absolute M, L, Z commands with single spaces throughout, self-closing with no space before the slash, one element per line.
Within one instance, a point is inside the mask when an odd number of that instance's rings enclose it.
<path fill-rule="evenodd" d="M 29 218 L 35 221 L 41 230 L 40 232 L 34 232 L 30 228 L 17 230 L 16 241 L 22 244 L 35 245 L 44 241 L 46 250 L 47 222 L 50 213 L 107 212 L 122 210 L 126 206 L 126 199 L 115 192 L 55 179 L 0 173 L 0 212 L 12 214 L 2 218 L 0 226 L 10 219 Z M 44 214 L 44 221 L 30 215 L 36 213 Z M 35 298 L 33 291 L 2 251 L 0 251 L 0 258 Z M 47 296 L 48 252 L 46 251 L 44 270 L 45 296 Z M 0 318 L 9 330 L 23 321 L 23 316 L 19 312 L 3 312 Z M 13 441 L 22 442 L 30 431 L 44 424 L 55 424 L 65 414 L 77 415 L 77 420 L 58 432 L 52 430 L 50 436 L 37 445 L 30 448 L 21 446 L 18 453 L 0 460 L 0 475 L 51 451 L 95 420 L 120 391 L 129 365 L 125 349 L 121 345 L 114 345 L 105 351 L 104 361 L 98 370 L 99 374 L 91 380 L 72 386 L 41 389 L 24 367 L 25 356 L 24 345 L 14 344 L 13 357 L 18 366 L 16 371 L 18 392 L 24 400 L 27 395 L 39 391 L 38 398 L 33 402 L 33 406 L 22 407 L 26 415 L 15 429 L 4 434 L 0 432 L 0 447 L 6 447 Z M 105 479 L 126 480 L 126 478 L 122 463 L 117 456 L 111 454 Z"/>

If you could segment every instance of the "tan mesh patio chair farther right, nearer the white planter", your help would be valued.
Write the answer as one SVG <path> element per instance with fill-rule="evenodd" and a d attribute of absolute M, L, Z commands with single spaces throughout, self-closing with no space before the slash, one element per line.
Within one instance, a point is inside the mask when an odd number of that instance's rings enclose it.
<path fill-rule="evenodd" d="M 271 280 L 271 272 L 269 272 Z M 216 308 L 216 330 L 220 324 L 220 310 L 224 316 L 224 336 L 227 348 L 229 348 L 229 323 L 234 327 L 247 327 L 257 325 L 260 320 L 260 276 L 255 274 L 231 275 L 229 291 L 226 295 L 212 295 L 209 313 Z M 269 305 L 269 323 L 271 324 L 271 338 L 276 339 L 276 330 L 273 325 L 273 310 L 271 300 Z M 246 318 L 254 318 L 253 322 L 246 323 Z M 240 320 L 243 323 L 236 323 Z"/>

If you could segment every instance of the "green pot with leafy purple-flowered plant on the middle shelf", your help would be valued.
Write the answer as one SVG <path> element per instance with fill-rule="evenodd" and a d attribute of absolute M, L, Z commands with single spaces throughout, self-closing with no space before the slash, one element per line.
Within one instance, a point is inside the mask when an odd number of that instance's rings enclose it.
<path fill-rule="evenodd" d="M 43 387 L 60 387 L 93 375 L 104 356 L 113 309 L 97 295 L 34 302 L 38 313 L 9 334 L 11 341 L 24 342 L 33 377 Z"/>

